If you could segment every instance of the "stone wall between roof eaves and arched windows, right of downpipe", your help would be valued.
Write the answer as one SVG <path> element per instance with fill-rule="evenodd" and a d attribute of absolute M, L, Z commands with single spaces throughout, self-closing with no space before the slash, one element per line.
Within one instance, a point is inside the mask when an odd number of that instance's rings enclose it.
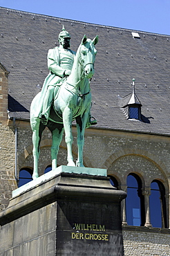
<path fill-rule="evenodd" d="M 10 121 L 11 129 L 14 129 Z M 23 167 L 33 168 L 32 131 L 29 122 L 16 122 L 18 175 Z M 7 128 L 9 129 L 9 128 Z M 12 131 L 14 133 L 14 130 Z M 73 127 L 73 156 L 77 158 L 76 129 Z M 14 139 L 14 138 L 13 138 Z M 50 131 L 45 129 L 41 138 L 39 174 L 51 164 Z M 13 160 L 12 160 L 13 161 Z M 64 137 L 59 149 L 58 165 L 66 165 L 66 143 Z M 11 166 L 14 163 L 10 164 Z M 84 165 L 86 167 L 106 168 L 109 175 L 115 176 L 121 185 L 126 185 L 126 177 L 135 172 L 142 179 L 143 187 L 150 187 L 153 179 L 164 184 L 169 194 L 170 138 L 148 134 L 135 134 L 122 131 L 102 131 L 86 129 L 84 145 Z M 168 205 L 168 203 L 167 203 Z"/>

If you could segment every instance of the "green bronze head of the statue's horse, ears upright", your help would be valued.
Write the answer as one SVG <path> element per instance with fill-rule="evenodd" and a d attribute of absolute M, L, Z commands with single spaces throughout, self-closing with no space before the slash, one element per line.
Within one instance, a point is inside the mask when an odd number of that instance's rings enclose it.
<path fill-rule="evenodd" d="M 91 40 L 87 39 L 86 35 L 84 35 L 82 39 L 79 58 L 81 66 L 84 69 L 84 75 L 86 78 L 91 78 L 94 75 L 94 62 L 95 55 L 97 53 L 97 50 L 95 49 L 95 44 L 97 44 L 97 42 L 98 36 Z"/>

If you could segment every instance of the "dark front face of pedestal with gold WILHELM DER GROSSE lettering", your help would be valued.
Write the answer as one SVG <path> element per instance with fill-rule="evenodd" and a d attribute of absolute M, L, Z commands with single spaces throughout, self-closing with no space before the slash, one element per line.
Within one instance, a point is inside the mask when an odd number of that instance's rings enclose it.
<path fill-rule="evenodd" d="M 57 212 L 58 255 L 123 255 L 119 205 L 67 201 Z"/>

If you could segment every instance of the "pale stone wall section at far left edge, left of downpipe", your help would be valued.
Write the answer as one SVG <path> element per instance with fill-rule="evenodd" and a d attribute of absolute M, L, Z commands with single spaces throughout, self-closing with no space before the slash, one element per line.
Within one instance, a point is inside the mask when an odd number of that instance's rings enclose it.
<path fill-rule="evenodd" d="M 15 180 L 15 129 L 8 127 L 8 71 L 0 62 L 0 211 L 17 188 Z"/>

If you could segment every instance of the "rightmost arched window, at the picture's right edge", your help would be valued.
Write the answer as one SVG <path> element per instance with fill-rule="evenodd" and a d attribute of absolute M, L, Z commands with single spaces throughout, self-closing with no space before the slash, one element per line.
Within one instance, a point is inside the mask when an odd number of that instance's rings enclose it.
<path fill-rule="evenodd" d="M 157 180 L 151 183 L 149 196 L 151 225 L 156 228 L 167 228 L 167 214 L 164 185 Z"/>

